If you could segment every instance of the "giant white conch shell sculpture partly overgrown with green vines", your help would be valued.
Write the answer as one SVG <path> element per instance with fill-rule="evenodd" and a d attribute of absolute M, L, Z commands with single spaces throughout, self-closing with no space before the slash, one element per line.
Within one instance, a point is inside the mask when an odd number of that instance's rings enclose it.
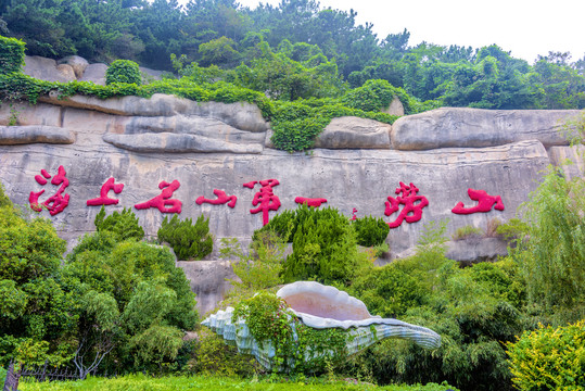
<path fill-rule="evenodd" d="M 372 316 L 360 300 L 333 287 L 314 281 L 298 281 L 282 287 L 277 297 L 283 299 L 298 320 L 308 327 L 347 330 L 347 355 L 358 353 L 385 338 L 411 340 L 424 349 L 441 346 L 441 336 L 433 330 L 392 318 Z M 233 308 L 227 307 L 226 311 L 218 311 L 205 318 L 201 324 L 221 336 L 226 343 L 236 345 L 240 353 L 254 355 L 262 366 L 271 369 L 276 355 L 272 343 L 258 344 L 244 320 L 232 323 L 232 314 Z M 309 358 L 309 355 L 310 353 L 305 352 L 306 358 Z"/>

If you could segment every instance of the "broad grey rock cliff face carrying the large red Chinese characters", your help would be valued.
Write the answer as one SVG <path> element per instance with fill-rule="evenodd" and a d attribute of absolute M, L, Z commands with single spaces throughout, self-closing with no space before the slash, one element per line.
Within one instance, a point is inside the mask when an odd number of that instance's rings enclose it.
<path fill-rule="evenodd" d="M 562 164 L 564 156 L 576 163 L 568 175 L 582 175 L 582 155 L 557 131 L 575 114 L 440 109 L 402 117 L 393 126 L 336 118 L 317 140 L 319 148 L 291 154 L 269 148 L 270 125 L 249 103 L 196 103 L 162 94 L 106 101 L 44 97 L 34 106 L 0 106 L 0 180 L 15 203 L 28 205 L 30 193 L 44 189 L 39 195 L 43 202 L 62 186 L 52 185 L 47 175 L 53 178 L 62 166 L 68 179 L 62 194 L 69 195 L 68 205 L 54 216 L 48 211 L 40 215 L 50 217 L 71 245 L 80 235 L 94 230 L 100 207 L 88 206 L 87 201 L 100 197 L 111 177 L 124 184 L 124 190 L 109 192 L 119 200 L 106 206 L 109 213 L 133 209 L 160 195 L 163 181 L 177 180 L 180 186 L 169 199 L 182 202 L 180 217 L 208 216 L 216 247 L 222 237 L 237 237 L 245 243 L 263 226 L 263 212 L 251 213 L 260 191 L 265 200 L 270 191 L 278 197 L 279 212 L 296 207 L 297 197 L 325 198 L 325 206 L 336 207 L 348 217 L 357 209 L 358 217 L 381 216 L 389 223 L 405 207 L 398 195 L 424 197 L 428 206 L 421 210 L 420 220 L 409 224 L 407 217 L 389 235 L 391 257 L 395 257 L 411 252 L 425 223 L 448 218 L 453 234 L 466 225 L 485 229 L 492 218 L 513 217 L 536 189 L 542 172 L 550 163 Z M 49 181 L 41 185 L 35 176 Z M 470 188 L 499 195 L 504 210 L 492 207 L 494 201 L 486 213 L 454 214 L 458 202 L 466 209 L 478 204 L 468 195 Z M 199 197 L 217 199 L 215 189 L 236 195 L 236 205 L 195 203 Z M 398 211 L 385 216 L 386 206 L 394 203 Z M 156 207 L 133 210 L 147 235 L 155 236 L 165 213 Z M 270 217 L 277 212 L 265 213 Z M 480 245 L 466 250 L 459 243 L 452 252 L 471 262 L 495 256 L 500 250 L 494 245 L 485 251 Z M 185 263 L 181 267 L 189 269 Z M 214 269 L 217 267 L 190 273 L 201 276 Z M 226 289 L 222 280 L 214 285 L 218 290 L 203 300 L 205 311 L 213 306 L 214 294 Z M 207 286 L 193 289 L 212 290 Z"/>

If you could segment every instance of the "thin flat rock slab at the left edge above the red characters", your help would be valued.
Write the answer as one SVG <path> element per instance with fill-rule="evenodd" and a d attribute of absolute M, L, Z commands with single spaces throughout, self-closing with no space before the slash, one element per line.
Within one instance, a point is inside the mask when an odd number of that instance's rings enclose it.
<path fill-rule="evenodd" d="M 73 143 L 75 135 L 71 130 L 55 126 L 0 126 L 0 146 L 35 142 Z"/>

